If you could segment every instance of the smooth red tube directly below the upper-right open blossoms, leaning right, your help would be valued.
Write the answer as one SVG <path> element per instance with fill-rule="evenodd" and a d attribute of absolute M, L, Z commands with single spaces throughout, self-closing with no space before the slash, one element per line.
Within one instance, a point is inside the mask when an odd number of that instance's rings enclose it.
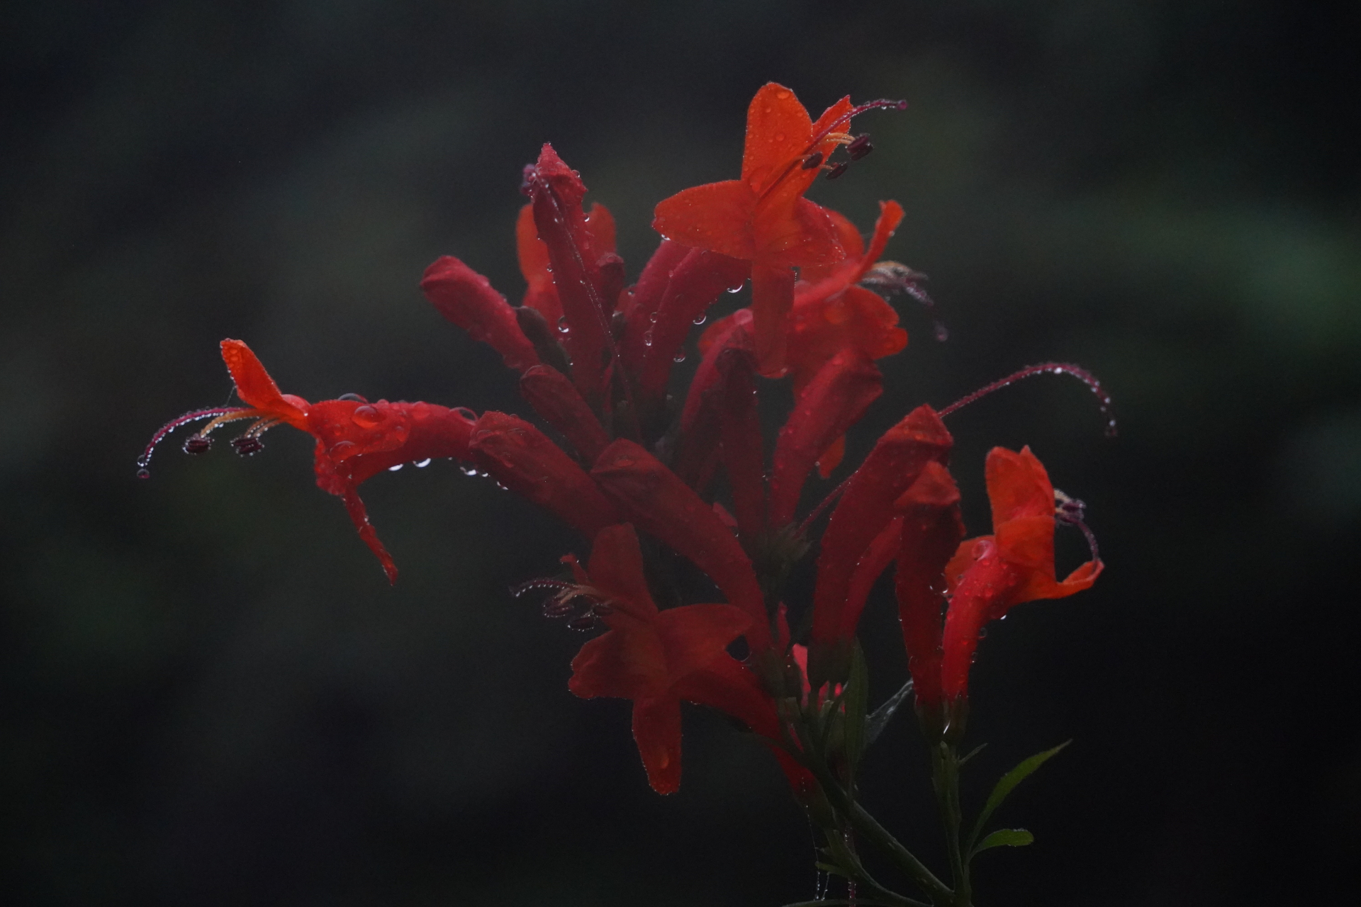
<path fill-rule="evenodd" d="M 813 464 L 864 415 L 883 392 L 874 363 L 855 352 L 833 356 L 795 401 L 780 430 L 770 477 L 770 525 L 793 522 L 803 483 Z"/>

